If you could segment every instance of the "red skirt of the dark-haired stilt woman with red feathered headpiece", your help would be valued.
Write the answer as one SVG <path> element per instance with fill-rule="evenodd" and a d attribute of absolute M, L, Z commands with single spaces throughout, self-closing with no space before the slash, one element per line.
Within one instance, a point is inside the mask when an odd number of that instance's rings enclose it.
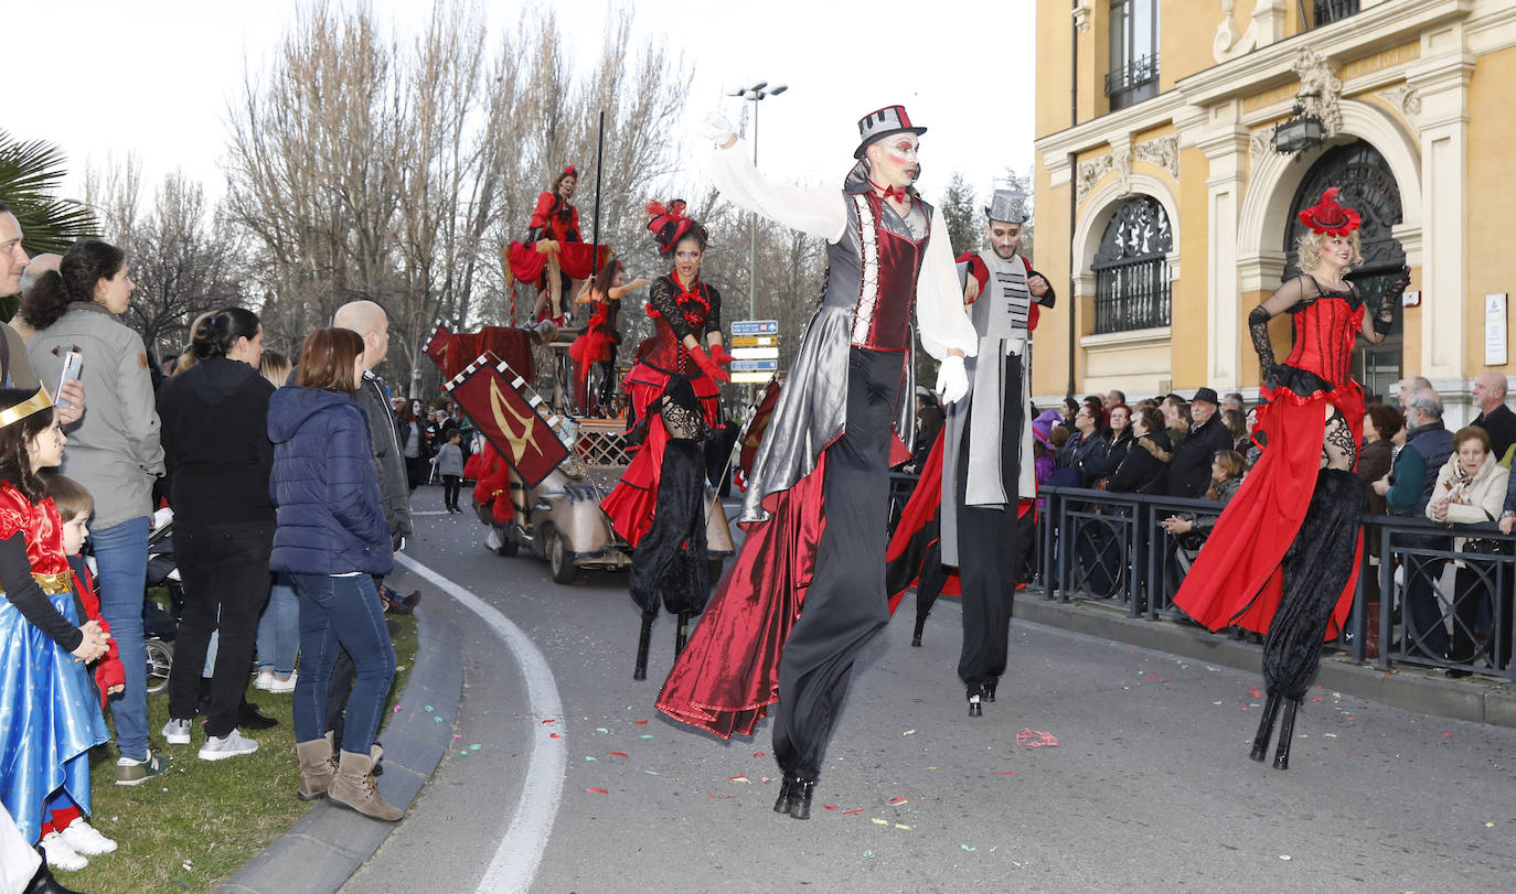
<path fill-rule="evenodd" d="M 673 376 L 647 364 L 637 364 L 626 374 L 623 386 L 632 397 L 632 409 L 638 420 L 647 420 L 647 439 L 632 458 L 631 465 L 615 488 L 600 502 L 600 508 L 609 515 L 615 533 L 632 547 L 643 539 L 643 535 L 653 526 L 653 512 L 658 503 L 658 476 L 662 473 L 664 444 L 669 433 L 662 427 L 662 420 L 647 411 L 669 388 Z M 716 382 L 709 376 L 690 379 L 694 397 L 700 402 L 705 424 L 714 427 L 720 412 L 720 395 Z"/>

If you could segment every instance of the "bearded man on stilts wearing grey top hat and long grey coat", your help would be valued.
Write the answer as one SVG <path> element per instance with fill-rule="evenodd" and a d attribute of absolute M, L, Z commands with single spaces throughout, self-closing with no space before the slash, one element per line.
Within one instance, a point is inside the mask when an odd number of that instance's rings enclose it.
<path fill-rule="evenodd" d="M 969 394 L 948 409 L 941 447 L 928 459 L 938 468 L 923 471 L 923 480 L 938 473 L 941 486 L 917 488 L 911 497 L 916 506 L 904 512 L 904 518 L 923 518 L 931 512 L 926 502 L 937 503 L 937 524 L 911 530 L 902 523 L 890 542 L 887 571 L 896 595 L 919 579 L 914 644 L 926 620 L 922 606 L 929 609 L 957 568 L 963 592 L 958 677 L 970 717 L 982 714 L 984 702 L 994 702 L 1005 673 L 1016 579 L 1032 544 L 1037 477 L 1026 412 L 1029 344 L 1038 305 L 1052 308 L 1057 302 L 1048 280 L 1016 252 L 1026 227 L 1026 195 L 996 189 L 984 212 L 990 247 L 958 256 L 964 303 L 979 336 L 978 356 L 964 361 Z M 925 545 L 932 527 L 938 529 L 937 541 Z M 913 541 L 917 549 L 911 549 Z"/>

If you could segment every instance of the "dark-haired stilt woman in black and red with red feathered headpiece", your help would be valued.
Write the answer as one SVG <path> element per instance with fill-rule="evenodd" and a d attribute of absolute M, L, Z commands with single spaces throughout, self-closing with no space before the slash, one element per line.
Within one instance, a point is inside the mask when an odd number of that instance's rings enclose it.
<path fill-rule="evenodd" d="M 641 447 L 602 503 L 615 532 L 635 547 L 629 586 L 643 611 L 635 680 L 647 676 L 647 642 L 659 602 L 679 618 L 678 655 L 690 618 L 711 595 L 703 444 L 720 414 L 716 382 L 731 379 L 720 367 L 731 362 L 722 347 L 722 294 L 700 280 L 705 227 L 684 214 L 682 200 L 669 208 L 650 202 L 647 212 L 653 215 L 647 229 L 662 253 L 673 255 L 673 270 L 649 289 L 655 342 L 626 376 L 637 412 L 628 439 Z"/>

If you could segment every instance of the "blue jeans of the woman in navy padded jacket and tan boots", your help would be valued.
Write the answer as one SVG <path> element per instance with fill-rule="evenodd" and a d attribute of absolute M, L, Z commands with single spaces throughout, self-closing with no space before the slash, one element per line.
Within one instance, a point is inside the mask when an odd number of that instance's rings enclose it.
<path fill-rule="evenodd" d="M 326 682 L 338 652 L 346 649 L 358 677 L 347 697 L 341 747 L 367 755 L 394 680 L 394 645 L 374 580 L 368 574 L 291 577 L 300 595 L 300 655 L 305 656 L 305 670 L 294 683 L 294 739 L 308 742 L 326 735 Z"/>

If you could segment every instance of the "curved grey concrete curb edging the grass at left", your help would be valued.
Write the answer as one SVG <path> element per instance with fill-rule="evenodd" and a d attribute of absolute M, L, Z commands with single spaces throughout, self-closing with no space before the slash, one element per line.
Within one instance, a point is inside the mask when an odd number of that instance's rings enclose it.
<path fill-rule="evenodd" d="M 429 621 L 424 605 L 415 609 L 415 665 L 400 705 L 432 705 L 434 711 L 391 714 L 381 729 L 385 771 L 377 779 L 379 791 L 399 808 L 411 805 L 443 759 L 464 685 L 456 638 L 443 636 L 437 627 L 444 624 Z M 334 808 L 323 799 L 215 889 L 233 894 L 337 891 L 396 826 Z"/>

